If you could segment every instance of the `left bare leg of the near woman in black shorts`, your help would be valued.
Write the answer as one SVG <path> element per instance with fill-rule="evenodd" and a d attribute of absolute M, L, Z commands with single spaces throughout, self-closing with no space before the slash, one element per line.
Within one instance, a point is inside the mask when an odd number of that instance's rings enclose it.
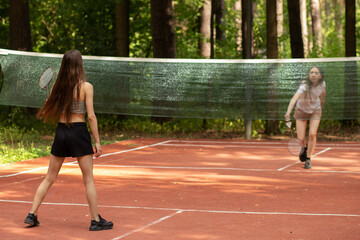
<path fill-rule="evenodd" d="M 42 201 L 44 200 L 49 188 L 55 182 L 56 177 L 58 176 L 61 166 L 64 162 L 64 159 L 64 157 L 56 157 L 52 154 L 50 155 L 48 172 L 45 179 L 42 181 L 42 183 L 36 190 L 34 202 L 30 211 L 30 213 L 33 213 L 35 216 L 37 216 L 38 209 Z"/>

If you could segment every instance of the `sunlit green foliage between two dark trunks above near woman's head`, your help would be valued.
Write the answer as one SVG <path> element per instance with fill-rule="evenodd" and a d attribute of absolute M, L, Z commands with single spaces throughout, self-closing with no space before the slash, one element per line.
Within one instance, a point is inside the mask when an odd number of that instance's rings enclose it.
<path fill-rule="evenodd" d="M 30 1 L 34 51 L 115 54 L 113 0 Z"/>

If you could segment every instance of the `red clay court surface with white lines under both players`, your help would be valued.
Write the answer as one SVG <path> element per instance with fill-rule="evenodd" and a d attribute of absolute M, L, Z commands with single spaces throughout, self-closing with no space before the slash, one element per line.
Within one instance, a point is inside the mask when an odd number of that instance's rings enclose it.
<path fill-rule="evenodd" d="M 76 159 L 23 223 L 48 157 L 1 166 L 1 239 L 359 239 L 360 143 L 319 143 L 306 170 L 285 141 L 134 139 L 94 161 L 99 212 L 89 232 Z"/>

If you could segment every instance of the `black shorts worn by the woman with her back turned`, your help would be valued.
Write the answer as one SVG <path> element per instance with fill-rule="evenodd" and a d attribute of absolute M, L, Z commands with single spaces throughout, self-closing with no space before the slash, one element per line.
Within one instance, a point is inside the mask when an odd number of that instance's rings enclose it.
<path fill-rule="evenodd" d="M 94 154 L 90 133 L 85 122 L 58 124 L 51 154 L 57 157 L 81 157 Z"/>

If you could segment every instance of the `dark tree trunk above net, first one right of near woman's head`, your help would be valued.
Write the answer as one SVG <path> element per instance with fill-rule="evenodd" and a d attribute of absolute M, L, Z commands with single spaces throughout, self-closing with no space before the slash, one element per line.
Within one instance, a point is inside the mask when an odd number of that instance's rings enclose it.
<path fill-rule="evenodd" d="M 115 2 L 116 55 L 129 56 L 129 9 L 130 0 Z"/>

